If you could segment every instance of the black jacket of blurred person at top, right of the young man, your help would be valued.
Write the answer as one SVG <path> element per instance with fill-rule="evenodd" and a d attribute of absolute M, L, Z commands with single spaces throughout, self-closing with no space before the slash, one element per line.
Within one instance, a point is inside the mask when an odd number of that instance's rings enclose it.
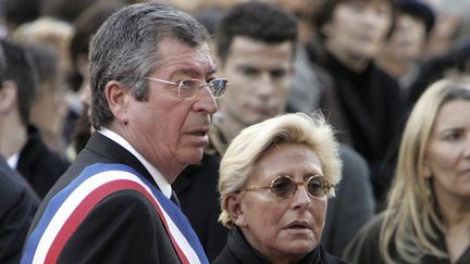
<path fill-rule="evenodd" d="M 316 60 L 314 54 L 311 58 Z M 321 66 L 334 81 L 325 91 L 321 110 L 325 116 L 331 116 L 339 140 L 366 159 L 374 196 L 383 200 L 388 188 L 384 183 L 388 180 L 382 176 L 382 165 L 398 144 L 397 129 L 403 112 L 398 84 L 373 62 L 361 73 L 355 73 L 326 53 Z"/>

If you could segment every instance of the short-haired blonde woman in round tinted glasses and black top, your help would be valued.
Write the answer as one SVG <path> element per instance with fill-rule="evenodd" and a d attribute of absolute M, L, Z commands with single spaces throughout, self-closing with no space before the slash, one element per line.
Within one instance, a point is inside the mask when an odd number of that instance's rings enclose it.
<path fill-rule="evenodd" d="M 217 263 L 346 263 L 321 244 L 327 197 L 341 179 L 338 144 L 321 115 L 286 114 L 242 130 L 221 162 Z"/>

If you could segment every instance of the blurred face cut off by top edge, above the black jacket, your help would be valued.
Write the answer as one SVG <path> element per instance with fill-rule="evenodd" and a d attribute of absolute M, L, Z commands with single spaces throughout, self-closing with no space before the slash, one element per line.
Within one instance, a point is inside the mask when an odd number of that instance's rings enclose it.
<path fill-rule="evenodd" d="M 374 59 L 391 27 L 391 12 L 385 1 L 339 3 L 321 28 L 326 36 L 327 49 L 339 58 Z"/>

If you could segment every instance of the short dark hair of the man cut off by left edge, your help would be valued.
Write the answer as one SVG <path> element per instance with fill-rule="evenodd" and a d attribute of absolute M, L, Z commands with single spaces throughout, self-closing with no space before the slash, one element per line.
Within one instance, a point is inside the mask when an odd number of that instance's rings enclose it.
<path fill-rule="evenodd" d="M 2 80 L 12 80 L 16 84 L 17 109 L 23 124 L 27 125 L 36 90 L 33 66 L 24 49 L 5 40 L 0 40 L 0 43 L 5 62 Z"/>

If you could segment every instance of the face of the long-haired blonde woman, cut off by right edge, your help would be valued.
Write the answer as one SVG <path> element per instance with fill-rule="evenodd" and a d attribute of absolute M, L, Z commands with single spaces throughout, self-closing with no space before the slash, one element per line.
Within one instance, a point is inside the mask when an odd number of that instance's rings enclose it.
<path fill-rule="evenodd" d="M 470 199 L 470 101 L 445 103 L 428 146 L 424 176 L 434 183 L 437 200 Z"/>

